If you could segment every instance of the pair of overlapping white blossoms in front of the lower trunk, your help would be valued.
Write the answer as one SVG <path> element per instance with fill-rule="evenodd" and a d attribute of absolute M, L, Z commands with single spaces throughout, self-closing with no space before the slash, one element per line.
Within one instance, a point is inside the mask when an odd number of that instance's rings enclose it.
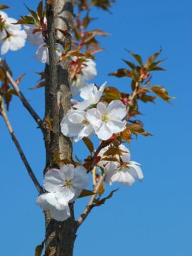
<path fill-rule="evenodd" d="M 48 210 L 52 218 L 58 221 L 70 217 L 68 203 L 75 201 L 83 188 L 88 186 L 89 177 L 83 166 L 74 168 L 73 164 L 66 164 L 58 169 L 46 172 L 43 186 L 47 193 L 37 198 L 37 204 L 43 210 Z"/>

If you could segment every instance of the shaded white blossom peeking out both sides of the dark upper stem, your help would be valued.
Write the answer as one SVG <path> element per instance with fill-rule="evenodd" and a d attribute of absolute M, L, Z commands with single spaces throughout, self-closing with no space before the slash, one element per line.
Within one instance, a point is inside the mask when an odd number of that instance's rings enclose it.
<path fill-rule="evenodd" d="M 57 58 L 59 59 L 61 54 L 63 53 L 63 46 L 57 43 L 55 52 L 56 52 Z M 46 43 L 42 43 L 40 46 L 38 46 L 35 57 L 37 60 L 41 61 L 41 63 L 49 64 L 48 47 Z"/>

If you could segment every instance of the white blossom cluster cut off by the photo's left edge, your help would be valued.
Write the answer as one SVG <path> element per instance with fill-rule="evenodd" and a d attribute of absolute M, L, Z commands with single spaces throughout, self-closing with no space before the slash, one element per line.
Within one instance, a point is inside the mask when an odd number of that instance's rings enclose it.
<path fill-rule="evenodd" d="M 7 53 L 8 50 L 19 50 L 25 46 L 26 32 L 21 30 L 20 24 L 13 24 L 16 22 L 15 18 L 9 18 L 4 11 L 0 11 L 1 54 Z"/>

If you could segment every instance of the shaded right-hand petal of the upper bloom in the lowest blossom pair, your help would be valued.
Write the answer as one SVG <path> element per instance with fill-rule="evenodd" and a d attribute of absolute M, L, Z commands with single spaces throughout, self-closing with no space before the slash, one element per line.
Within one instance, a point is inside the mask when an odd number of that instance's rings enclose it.
<path fill-rule="evenodd" d="M 83 166 L 78 166 L 75 168 L 75 173 L 73 176 L 73 183 L 75 188 L 86 188 L 89 184 L 89 176 L 87 170 Z"/>

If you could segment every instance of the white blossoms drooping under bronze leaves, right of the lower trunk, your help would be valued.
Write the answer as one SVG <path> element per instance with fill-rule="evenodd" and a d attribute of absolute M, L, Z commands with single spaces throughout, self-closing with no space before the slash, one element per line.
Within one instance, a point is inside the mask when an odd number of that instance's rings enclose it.
<path fill-rule="evenodd" d="M 104 149 L 100 151 L 101 158 L 103 154 L 110 148 L 110 146 L 106 146 Z M 114 182 L 122 183 L 124 186 L 131 186 L 136 178 L 142 180 L 144 178 L 142 174 L 142 169 L 139 167 L 135 161 L 130 161 L 130 151 L 126 146 L 120 144 L 118 149 L 122 150 L 121 160 L 122 164 L 119 161 L 100 161 L 100 166 L 104 168 L 105 172 L 105 181 L 107 184 L 112 185 Z M 118 160 L 120 157 L 115 155 Z"/>

